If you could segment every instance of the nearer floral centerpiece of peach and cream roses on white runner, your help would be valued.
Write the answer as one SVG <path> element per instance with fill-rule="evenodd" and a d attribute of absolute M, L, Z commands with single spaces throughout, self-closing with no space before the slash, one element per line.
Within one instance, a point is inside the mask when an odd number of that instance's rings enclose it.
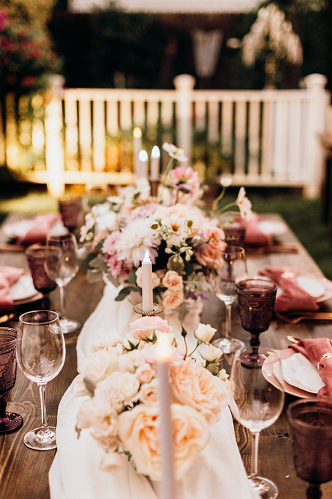
<path fill-rule="evenodd" d="M 229 402 L 228 375 L 219 369 L 220 349 L 209 344 L 216 331 L 199 324 L 197 359 L 172 327 L 160 317 L 140 317 L 122 340 L 104 335 L 93 347 L 93 359 L 77 377 L 76 396 L 89 396 L 77 414 L 77 430 L 89 428 L 106 451 L 100 468 L 116 472 L 133 458 L 138 473 L 160 479 L 158 365 L 160 335 L 169 338 L 169 383 L 174 430 L 176 478 L 190 467 L 209 441 L 210 426 Z M 201 360 L 199 360 L 199 358 Z"/>

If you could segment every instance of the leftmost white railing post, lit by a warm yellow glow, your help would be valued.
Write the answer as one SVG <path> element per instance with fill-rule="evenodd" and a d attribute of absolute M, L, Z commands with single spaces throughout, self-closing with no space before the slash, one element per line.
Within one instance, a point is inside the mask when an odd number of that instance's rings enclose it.
<path fill-rule="evenodd" d="M 62 88 L 53 85 L 51 95 L 45 116 L 45 162 L 48 192 L 58 198 L 64 193 Z"/>

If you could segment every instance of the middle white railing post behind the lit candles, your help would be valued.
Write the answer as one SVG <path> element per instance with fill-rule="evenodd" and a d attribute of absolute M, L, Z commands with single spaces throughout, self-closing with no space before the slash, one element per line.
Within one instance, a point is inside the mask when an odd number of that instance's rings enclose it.
<path fill-rule="evenodd" d="M 181 74 L 174 78 L 176 89 L 176 146 L 192 157 L 192 90 L 194 76 Z"/>

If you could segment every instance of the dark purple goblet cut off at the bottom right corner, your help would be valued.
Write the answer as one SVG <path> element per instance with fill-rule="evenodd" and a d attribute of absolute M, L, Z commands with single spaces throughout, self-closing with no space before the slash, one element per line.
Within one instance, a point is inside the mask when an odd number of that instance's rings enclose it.
<path fill-rule="evenodd" d="M 308 482 L 306 497 L 319 499 L 320 484 L 332 480 L 332 401 L 298 400 L 287 415 L 296 474 Z"/>

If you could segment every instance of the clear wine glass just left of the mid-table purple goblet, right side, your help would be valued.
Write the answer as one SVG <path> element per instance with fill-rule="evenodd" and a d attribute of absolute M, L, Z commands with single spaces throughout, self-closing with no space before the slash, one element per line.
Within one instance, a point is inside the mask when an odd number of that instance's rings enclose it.
<path fill-rule="evenodd" d="M 210 282 L 216 296 L 225 304 L 225 338 L 214 340 L 214 347 L 223 349 L 224 353 L 234 353 L 244 347 L 244 343 L 232 338 L 232 304 L 237 299 L 235 284 L 246 279 L 246 252 L 243 247 L 228 246 L 218 252 L 214 258 L 214 268 L 210 272 Z"/>

